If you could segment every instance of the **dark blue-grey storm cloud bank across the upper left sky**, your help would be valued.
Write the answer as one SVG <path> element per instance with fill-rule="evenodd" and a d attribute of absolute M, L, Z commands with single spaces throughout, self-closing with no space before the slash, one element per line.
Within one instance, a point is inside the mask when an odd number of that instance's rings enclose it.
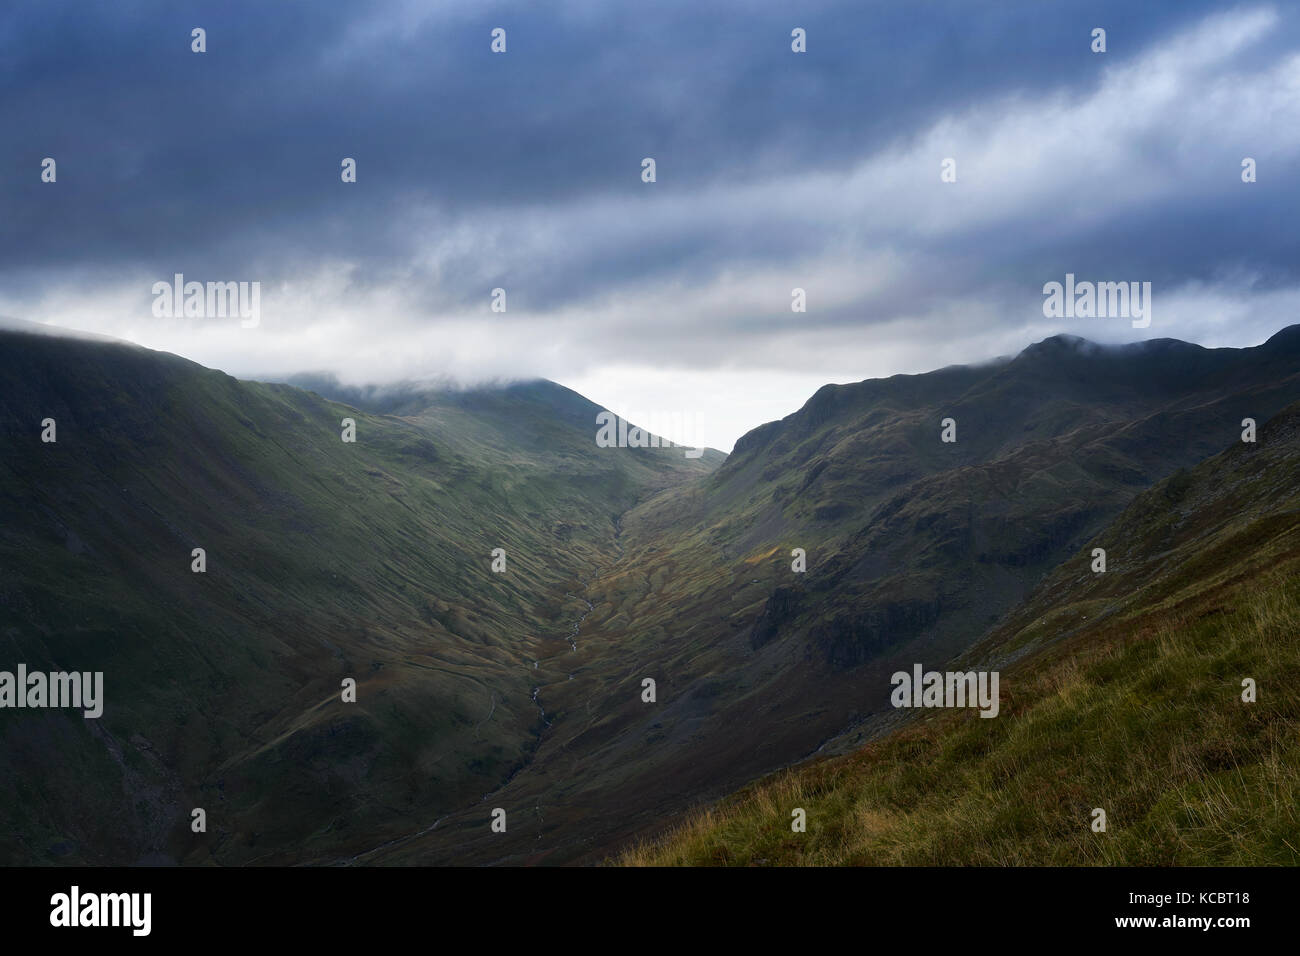
<path fill-rule="evenodd" d="M 842 168 L 992 94 L 1095 85 L 1093 22 L 1123 56 L 1208 4 L 1132 7 L 10 4 L 3 261 L 226 273 L 328 251 L 384 281 L 412 204 L 446 222 L 627 193 L 645 155 L 679 189 Z M 812 55 L 790 55 L 794 25 Z M 57 191 L 36 179 L 43 156 Z M 779 258 L 801 237 L 679 238 L 577 264 L 618 281 L 746 242 Z"/>

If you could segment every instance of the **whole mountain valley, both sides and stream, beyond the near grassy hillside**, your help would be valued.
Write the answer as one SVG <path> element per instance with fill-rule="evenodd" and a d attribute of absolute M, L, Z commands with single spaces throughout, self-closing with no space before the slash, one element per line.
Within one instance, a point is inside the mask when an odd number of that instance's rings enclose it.
<path fill-rule="evenodd" d="M 828 385 L 725 460 L 598 447 L 552 382 L 299 384 L 0 333 L 0 670 L 101 670 L 107 697 L 0 709 L 0 858 L 606 858 L 910 732 L 889 674 L 983 646 L 1300 401 L 1300 326 Z"/>

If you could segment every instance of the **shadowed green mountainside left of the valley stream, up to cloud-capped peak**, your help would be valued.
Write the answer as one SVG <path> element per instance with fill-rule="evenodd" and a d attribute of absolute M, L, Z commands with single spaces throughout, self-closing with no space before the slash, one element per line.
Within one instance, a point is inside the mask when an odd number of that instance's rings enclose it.
<path fill-rule="evenodd" d="M 394 418 L 0 334 L 0 669 L 103 670 L 107 698 L 0 711 L 0 860 L 320 860 L 499 786 L 615 516 L 710 467 L 597 449 L 582 403 L 538 384 Z"/>

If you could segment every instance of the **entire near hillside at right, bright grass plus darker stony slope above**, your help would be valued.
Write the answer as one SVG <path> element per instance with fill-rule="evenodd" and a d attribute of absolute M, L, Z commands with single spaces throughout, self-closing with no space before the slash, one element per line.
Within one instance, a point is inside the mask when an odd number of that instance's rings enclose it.
<path fill-rule="evenodd" d="M 1300 408 L 1138 498 L 961 666 L 1002 669 L 998 718 L 915 711 L 619 862 L 1300 864 Z"/>

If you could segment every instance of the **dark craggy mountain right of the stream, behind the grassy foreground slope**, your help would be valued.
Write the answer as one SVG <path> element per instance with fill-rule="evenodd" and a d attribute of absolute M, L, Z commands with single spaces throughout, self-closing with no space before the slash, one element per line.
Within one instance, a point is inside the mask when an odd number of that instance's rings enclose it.
<path fill-rule="evenodd" d="M 598 860 L 871 740 L 900 722 L 892 672 L 967 650 L 1135 496 L 1297 399 L 1300 326 L 1254 349 L 1053 337 L 828 385 L 623 518 L 620 558 L 585 592 L 585 680 L 549 695 L 555 727 L 495 797 L 543 812 L 491 834 L 472 808 L 374 858 Z"/>

